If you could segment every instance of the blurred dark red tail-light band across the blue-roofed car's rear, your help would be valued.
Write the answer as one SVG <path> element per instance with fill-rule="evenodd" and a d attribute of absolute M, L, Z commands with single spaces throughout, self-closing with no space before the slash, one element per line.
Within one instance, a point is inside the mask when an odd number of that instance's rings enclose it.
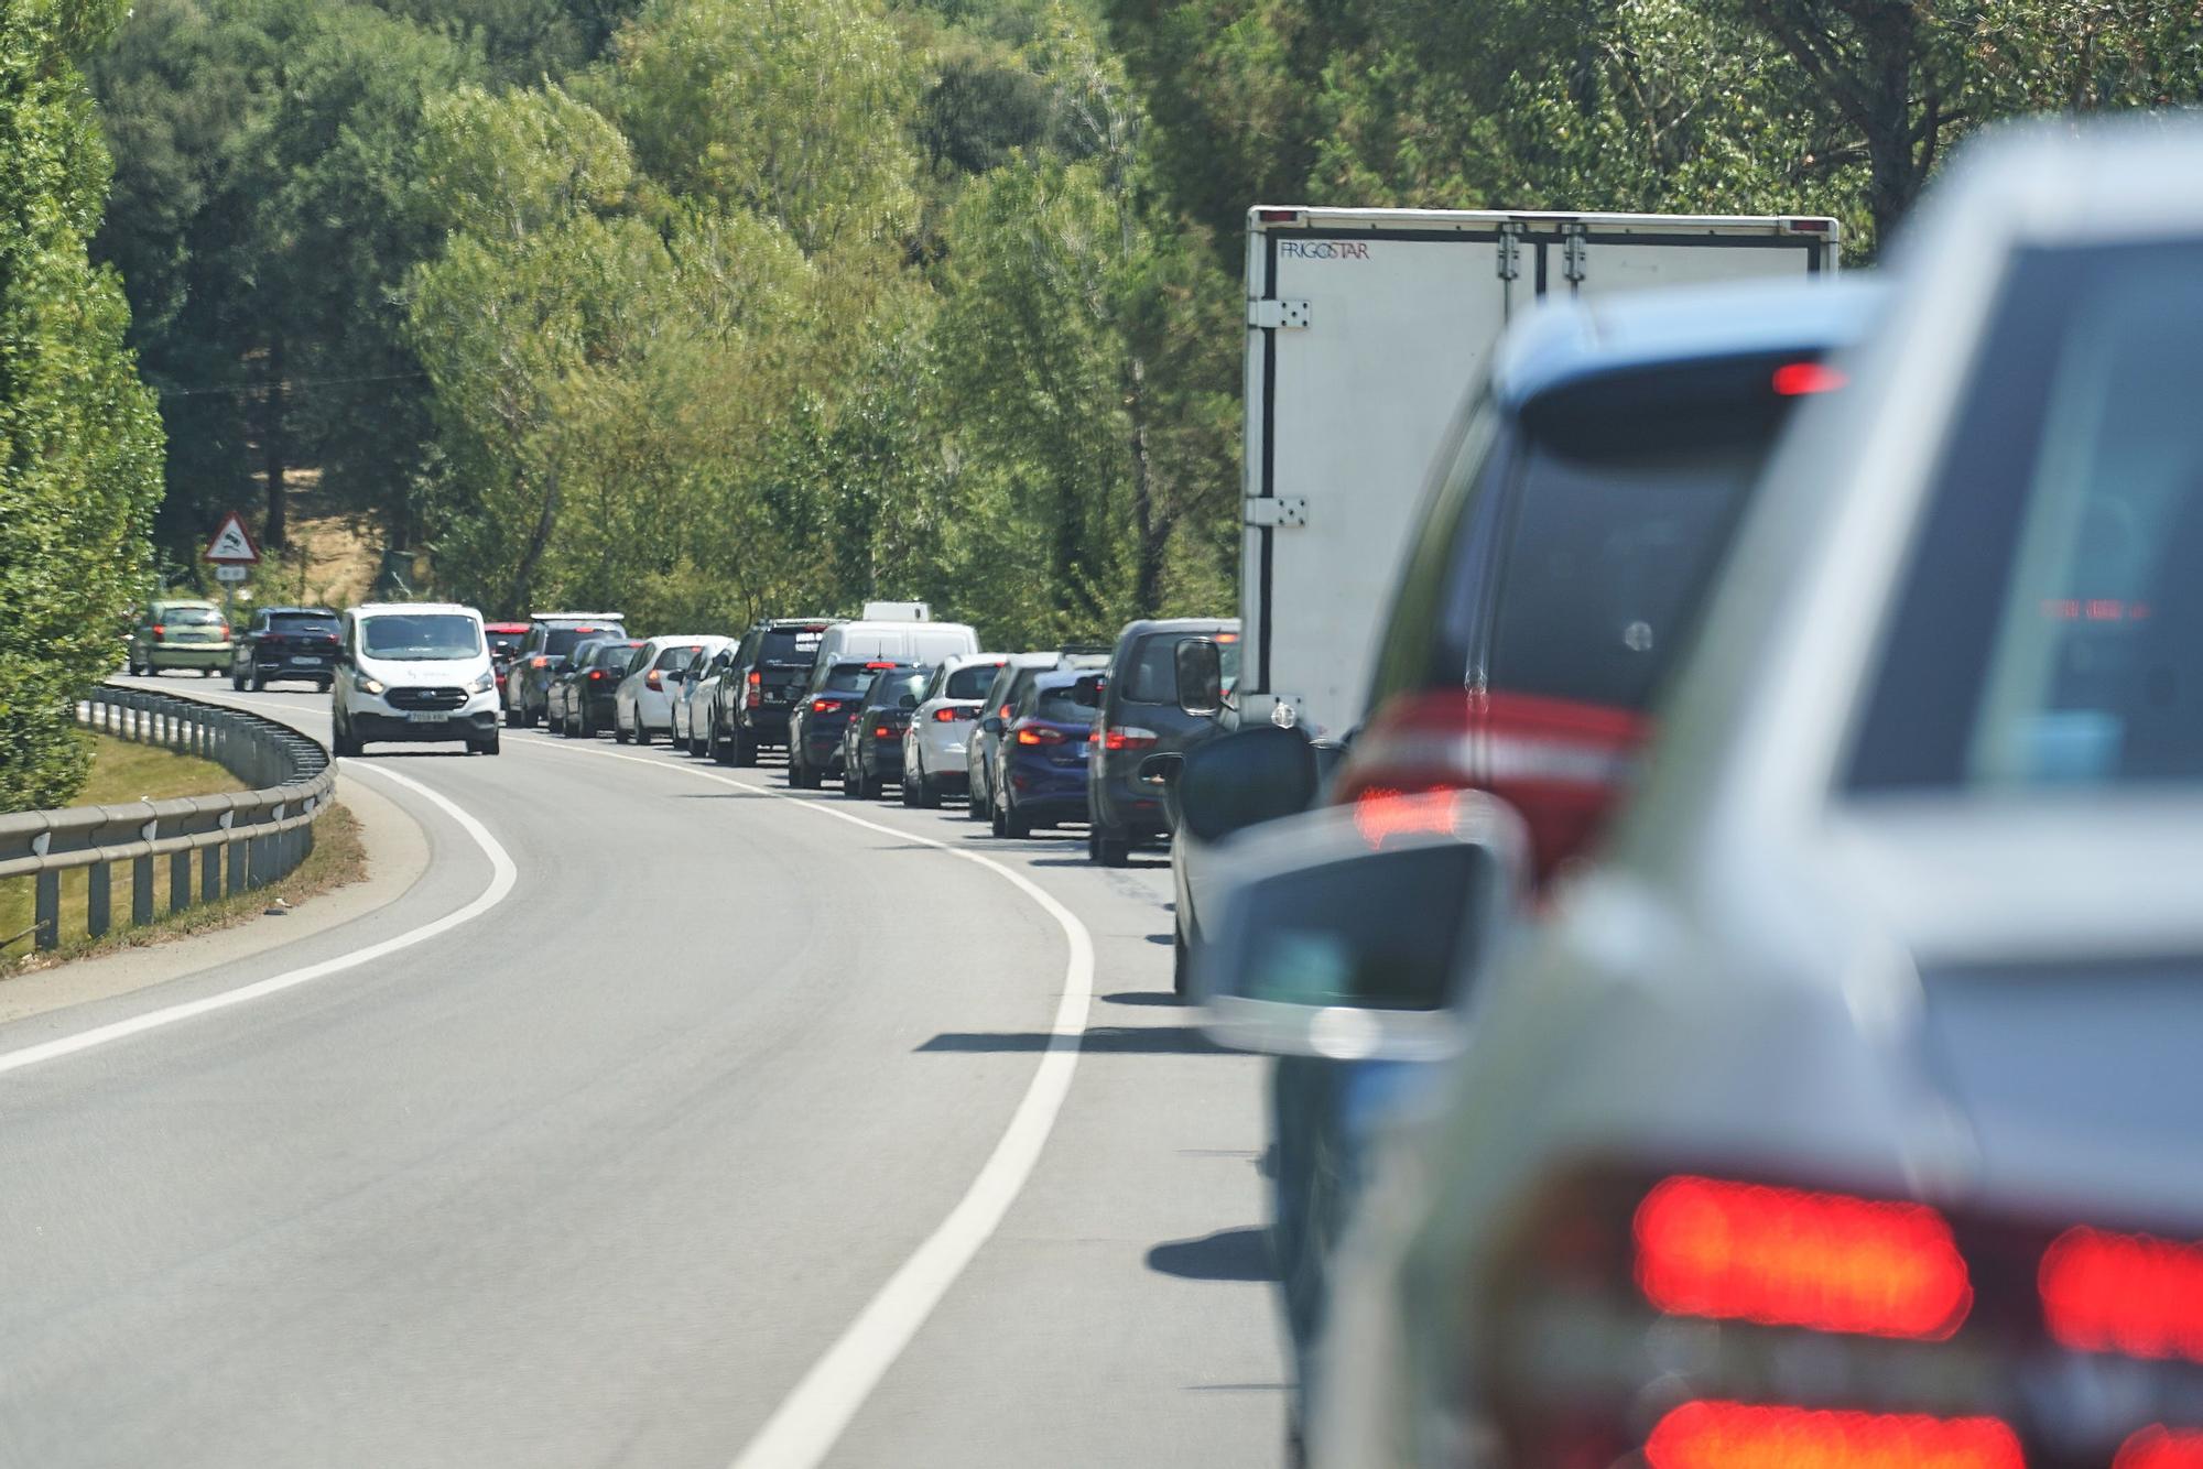
<path fill-rule="evenodd" d="M 1650 720 L 1529 694 L 1428 692 L 1388 703 L 1355 740 L 1337 802 L 1461 786 L 1511 804 L 1538 879 L 1584 852 L 1637 769 Z"/>

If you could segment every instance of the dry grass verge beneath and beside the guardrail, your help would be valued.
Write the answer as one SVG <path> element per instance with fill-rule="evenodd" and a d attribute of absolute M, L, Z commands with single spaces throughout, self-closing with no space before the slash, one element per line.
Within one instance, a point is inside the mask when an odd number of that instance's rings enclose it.
<path fill-rule="evenodd" d="M 130 747 L 139 749 L 139 747 Z M 227 771 L 225 771 L 227 775 Z M 234 784 L 229 788 L 236 788 Z M 132 795 L 132 799 L 137 799 Z M 130 914 L 130 863 L 117 861 L 112 866 L 112 892 L 115 892 L 115 918 L 117 923 L 128 923 Z M 229 927 L 242 923 L 278 899 L 284 903 L 304 903 L 306 899 L 344 888 L 346 883 L 357 883 L 368 872 L 368 850 L 359 841 L 359 819 L 346 810 L 341 804 L 330 804 L 313 824 L 313 850 L 306 855 L 289 877 L 269 883 L 267 888 L 251 888 L 236 896 L 218 899 L 200 907 L 185 910 L 181 914 L 163 912 L 159 918 L 143 927 L 117 927 L 106 938 L 90 938 L 84 934 L 84 888 L 86 870 L 62 874 L 62 947 L 46 954 L 26 954 L 31 940 L 24 938 L 9 949 L 0 951 L 0 980 L 31 973 L 33 969 L 51 969 L 53 965 L 68 962 L 73 958 L 88 958 L 93 954 L 112 954 L 115 949 L 137 949 L 154 943 L 165 943 L 170 938 L 183 938 L 185 934 L 205 934 L 209 929 Z M 196 881 L 196 863 L 194 863 Z M 0 881 L 0 938 L 9 938 L 31 927 L 31 879 L 15 877 Z M 167 859 L 154 859 L 154 907 L 167 907 Z"/>

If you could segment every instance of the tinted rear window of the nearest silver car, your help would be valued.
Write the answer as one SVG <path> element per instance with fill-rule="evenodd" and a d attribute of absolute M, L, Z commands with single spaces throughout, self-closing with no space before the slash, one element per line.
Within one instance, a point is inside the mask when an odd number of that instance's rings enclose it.
<path fill-rule="evenodd" d="M 2203 780 L 2203 242 L 2022 253 L 1976 361 L 1851 786 Z"/>

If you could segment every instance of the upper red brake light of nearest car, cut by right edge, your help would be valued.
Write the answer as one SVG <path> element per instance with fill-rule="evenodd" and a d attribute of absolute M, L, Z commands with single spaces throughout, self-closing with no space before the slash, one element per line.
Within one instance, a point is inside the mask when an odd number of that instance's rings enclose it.
<path fill-rule="evenodd" d="M 2038 1286 L 2042 1321 L 2060 1346 L 2203 1361 L 2199 1244 L 2066 1229 L 2042 1251 Z"/>

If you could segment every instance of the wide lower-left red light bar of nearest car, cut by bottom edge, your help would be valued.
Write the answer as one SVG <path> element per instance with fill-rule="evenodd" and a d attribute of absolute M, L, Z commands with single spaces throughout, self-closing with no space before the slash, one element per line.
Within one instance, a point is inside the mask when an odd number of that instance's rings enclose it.
<path fill-rule="evenodd" d="M 2022 1469 L 1998 1418 L 1683 1403 L 1646 1443 L 1652 1469 Z"/>

